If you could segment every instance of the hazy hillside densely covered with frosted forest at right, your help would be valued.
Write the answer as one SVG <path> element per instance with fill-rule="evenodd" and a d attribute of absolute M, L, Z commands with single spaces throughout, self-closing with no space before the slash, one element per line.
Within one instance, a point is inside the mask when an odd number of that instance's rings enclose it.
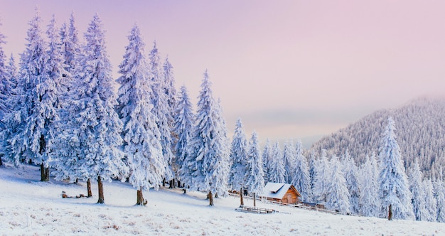
<path fill-rule="evenodd" d="M 365 161 L 366 155 L 378 153 L 380 135 L 388 117 L 396 124 L 397 142 L 400 145 L 405 168 L 419 159 L 424 176 L 436 177 L 440 166 L 445 165 L 445 100 L 422 98 L 398 109 L 374 112 L 354 124 L 317 141 L 307 151 L 320 154 L 322 149 L 341 156 L 348 150 L 356 163 Z"/>

